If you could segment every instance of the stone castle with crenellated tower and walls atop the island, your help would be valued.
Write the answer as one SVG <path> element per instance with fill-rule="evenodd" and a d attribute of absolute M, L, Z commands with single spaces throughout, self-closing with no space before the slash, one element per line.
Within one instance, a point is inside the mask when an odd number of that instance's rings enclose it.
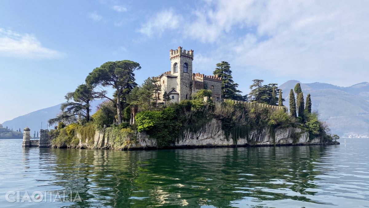
<path fill-rule="evenodd" d="M 181 100 L 190 99 L 192 93 L 200 89 L 211 90 L 211 97 L 215 100 L 221 98 L 222 79 L 218 76 L 205 76 L 204 74 L 192 73 L 193 50 L 170 50 L 170 71 L 158 76 L 161 84 L 161 94 L 159 99 L 163 98 L 166 92 L 172 98 L 173 103 Z"/>

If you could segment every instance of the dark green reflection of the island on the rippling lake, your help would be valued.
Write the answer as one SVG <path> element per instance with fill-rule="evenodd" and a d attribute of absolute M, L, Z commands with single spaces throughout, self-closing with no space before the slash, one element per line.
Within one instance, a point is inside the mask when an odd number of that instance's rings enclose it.
<path fill-rule="evenodd" d="M 252 197 L 310 201 L 326 146 L 153 151 L 48 149 L 55 185 L 79 191 L 79 207 L 214 205 Z M 41 152 L 41 149 L 40 149 Z M 320 165 L 321 167 L 321 165 Z M 286 195 L 289 189 L 300 196 Z M 267 191 L 266 191 L 267 190 Z M 268 191 L 269 190 L 269 191 Z M 130 197 L 148 197 L 142 200 Z M 134 203 L 134 204 L 130 204 Z"/>

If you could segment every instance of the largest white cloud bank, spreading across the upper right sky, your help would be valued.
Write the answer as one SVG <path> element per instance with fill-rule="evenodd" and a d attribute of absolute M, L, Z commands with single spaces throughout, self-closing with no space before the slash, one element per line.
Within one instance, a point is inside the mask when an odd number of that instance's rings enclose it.
<path fill-rule="evenodd" d="M 192 18 L 163 10 L 140 32 L 160 36 L 181 25 L 187 32 L 177 36 L 218 47 L 203 57 L 229 57 L 248 74 L 350 85 L 369 81 L 368 8 L 365 0 L 206 1 Z"/>

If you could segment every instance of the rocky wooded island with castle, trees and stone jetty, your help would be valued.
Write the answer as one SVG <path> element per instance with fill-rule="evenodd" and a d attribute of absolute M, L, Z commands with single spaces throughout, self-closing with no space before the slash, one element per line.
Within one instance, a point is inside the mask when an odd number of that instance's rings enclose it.
<path fill-rule="evenodd" d="M 138 63 L 102 64 L 65 95 L 61 112 L 48 121 L 58 124 L 54 130 L 41 130 L 40 139 L 32 141 L 26 128 L 23 146 L 133 150 L 339 144 L 299 83 L 289 92 L 287 108 L 276 83 L 252 80 L 251 92 L 242 95 L 226 61 L 216 64 L 213 75 L 193 73 L 193 53 L 170 50 L 170 71 L 141 85 L 135 83 Z M 90 102 L 98 98 L 105 101 L 90 116 Z"/>

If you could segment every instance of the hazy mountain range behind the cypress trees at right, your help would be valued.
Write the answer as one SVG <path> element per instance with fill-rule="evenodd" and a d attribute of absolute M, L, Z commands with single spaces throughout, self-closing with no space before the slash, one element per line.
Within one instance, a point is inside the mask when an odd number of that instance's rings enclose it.
<path fill-rule="evenodd" d="M 289 92 L 300 83 L 289 80 L 280 85 L 285 105 L 289 107 Z M 319 110 L 320 118 L 331 124 L 333 133 L 344 136 L 369 136 L 369 83 L 339 87 L 327 83 L 301 84 L 306 95 L 310 93 L 313 110 Z"/>

